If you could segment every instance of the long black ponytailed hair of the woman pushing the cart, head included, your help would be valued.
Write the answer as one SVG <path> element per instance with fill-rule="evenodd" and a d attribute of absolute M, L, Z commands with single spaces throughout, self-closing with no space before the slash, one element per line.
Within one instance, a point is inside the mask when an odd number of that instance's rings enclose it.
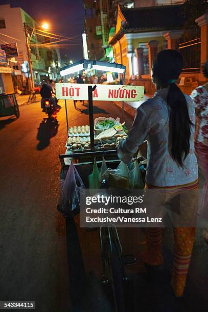
<path fill-rule="evenodd" d="M 163 86 L 170 86 L 167 96 L 169 114 L 169 147 L 171 156 L 180 166 L 190 150 L 191 120 L 184 94 L 176 86 L 183 67 L 181 54 L 176 50 L 163 50 L 156 56 L 152 76 Z"/>

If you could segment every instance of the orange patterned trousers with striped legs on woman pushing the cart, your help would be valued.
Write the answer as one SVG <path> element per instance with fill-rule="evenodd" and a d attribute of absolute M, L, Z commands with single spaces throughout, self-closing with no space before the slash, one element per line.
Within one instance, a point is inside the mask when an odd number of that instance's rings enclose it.
<path fill-rule="evenodd" d="M 194 194 L 196 196 L 189 196 L 190 193 L 185 195 L 186 209 L 184 213 L 193 214 L 198 209 L 198 192 L 197 185 L 193 183 Z M 191 187 L 192 187 L 191 186 Z M 190 188 L 190 185 L 188 186 Z M 148 187 L 146 186 L 146 189 Z M 166 199 L 173 194 L 170 191 Z M 192 193 L 193 194 L 193 193 Z M 173 269 L 171 270 L 171 285 L 176 297 L 181 297 L 184 292 L 186 285 L 187 273 L 192 255 L 192 249 L 195 240 L 195 227 L 174 227 L 174 261 Z M 144 246 L 143 258 L 144 262 L 151 266 L 159 266 L 163 264 L 163 253 L 162 253 L 162 237 L 161 228 L 149 227 L 146 229 L 147 243 Z"/>

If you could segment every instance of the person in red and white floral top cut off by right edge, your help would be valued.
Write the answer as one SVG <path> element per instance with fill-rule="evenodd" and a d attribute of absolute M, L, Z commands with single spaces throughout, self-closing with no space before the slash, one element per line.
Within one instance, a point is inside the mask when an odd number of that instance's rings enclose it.
<path fill-rule="evenodd" d="M 208 59 L 203 65 L 203 74 L 208 79 Z M 195 150 L 205 179 L 199 213 L 208 220 L 208 82 L 197 87 L 190 96 L 195 103 L 197 119 Z M 203 233 L 208 243 L 208 228 Z"/>

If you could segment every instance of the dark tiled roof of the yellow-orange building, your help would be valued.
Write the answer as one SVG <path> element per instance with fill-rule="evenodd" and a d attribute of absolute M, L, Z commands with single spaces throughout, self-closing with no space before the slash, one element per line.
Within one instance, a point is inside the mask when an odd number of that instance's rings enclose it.
<path fill-rule="evenodd" d="M 183 27 L 184 17 L 181 5 L 121 8 L 127 23 L 123 29 L 136 30 L 171 30 Z"/>

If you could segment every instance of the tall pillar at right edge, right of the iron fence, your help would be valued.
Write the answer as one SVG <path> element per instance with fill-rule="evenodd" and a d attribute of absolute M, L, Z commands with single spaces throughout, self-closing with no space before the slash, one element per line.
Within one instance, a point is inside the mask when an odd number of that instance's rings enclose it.
<path fill-rule="evenodd" d="M 196 19 L 201 28 L 201 65 L 208 59 L 208 12 Z M 200 81 L 205 81 L 205 77 L 201 72 Z"/>

